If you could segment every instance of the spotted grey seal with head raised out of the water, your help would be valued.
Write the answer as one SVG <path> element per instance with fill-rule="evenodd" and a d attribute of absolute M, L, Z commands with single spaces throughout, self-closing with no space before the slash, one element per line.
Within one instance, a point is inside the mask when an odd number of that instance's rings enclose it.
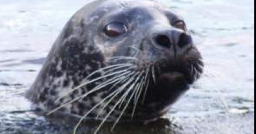
<path fill-rule="evenodd" d="M 185 21 L 171 9 L 150 0 L 96 0 L 66 24 L 27 98 L 48 114 L 102 120 L 99 128 L 154 120 L 203 66 Z"/>

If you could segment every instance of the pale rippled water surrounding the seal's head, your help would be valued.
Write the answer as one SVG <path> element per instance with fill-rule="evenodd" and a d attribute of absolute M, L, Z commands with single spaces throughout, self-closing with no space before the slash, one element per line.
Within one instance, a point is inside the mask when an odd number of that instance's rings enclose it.
<path fill-rule="evenodd" d="M 159 0 L 186 20 L 206 62 L 204 76 L 148 126 L 106 125 L 100 134 L 254 134 L 254 1 Z M 64 24 L 84 0 L 0 1 L 0 134 L 70 134 L 75 125 L 31 110 L 24 93 Z M 69 121 L 69 120 L 68 120 Z M 98 123 L 85 123 L 91 134 Z"/>

